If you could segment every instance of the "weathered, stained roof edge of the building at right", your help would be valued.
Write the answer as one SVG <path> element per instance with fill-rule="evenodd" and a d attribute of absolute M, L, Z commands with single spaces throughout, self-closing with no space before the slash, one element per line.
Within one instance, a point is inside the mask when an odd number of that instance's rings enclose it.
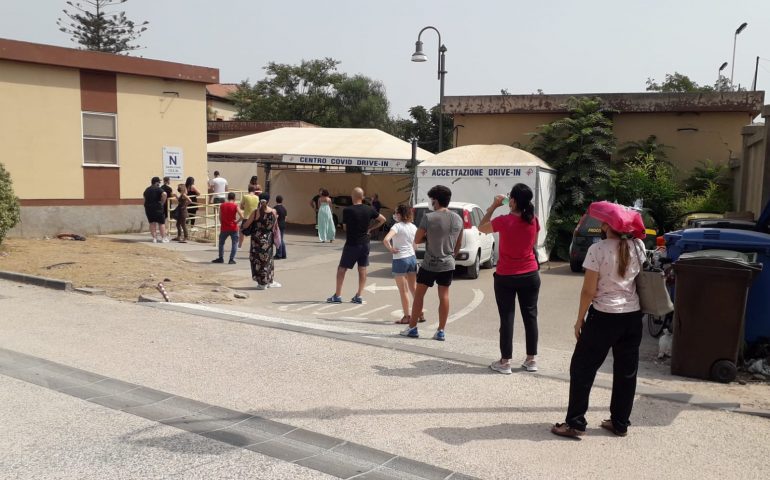
<path fill-rule="evenodd" d="M 620 113 L 745 112 L 756 116 L 762 111 L 765 92 L 448 96 L 444 97 L 444 113 L 567 113 L 566 104 L 572 97 L 599 97 Z"/>

